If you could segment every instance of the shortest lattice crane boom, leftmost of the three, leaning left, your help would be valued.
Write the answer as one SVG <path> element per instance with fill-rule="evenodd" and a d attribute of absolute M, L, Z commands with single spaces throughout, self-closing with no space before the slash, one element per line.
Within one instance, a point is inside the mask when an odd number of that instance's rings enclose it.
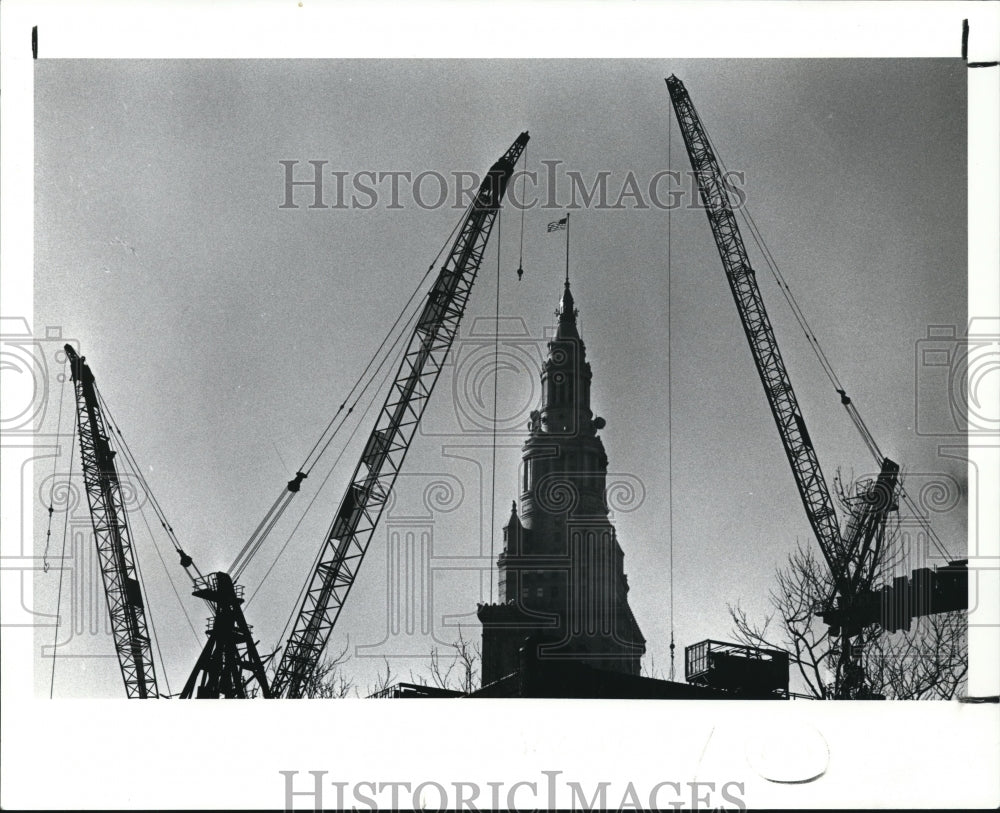
<path fill-rule="evenodd" d="M 83 481 L 125 691 L 129 698 L 156 698 L 160 694 L 152 641 L 121 483 L 115 469 L 115 452 L 109 442 L 94 374 L 86 359 L 77 355 L 71 345 L 67 344 L 64 350 L 76 391 Z"/>

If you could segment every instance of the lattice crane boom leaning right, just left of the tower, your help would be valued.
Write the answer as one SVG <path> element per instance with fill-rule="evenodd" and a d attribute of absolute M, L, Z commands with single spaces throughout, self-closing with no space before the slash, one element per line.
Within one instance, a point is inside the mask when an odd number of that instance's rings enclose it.
<path fill-rule="evenodd" d="M 521 133 L 483 179 L 427 294 L 385 403 L 306 582 L 271 682 L 274 697 L 298 698 L 306 691 L 458 331 L 507 183 L 528 138 L 527 132 Z"/>

